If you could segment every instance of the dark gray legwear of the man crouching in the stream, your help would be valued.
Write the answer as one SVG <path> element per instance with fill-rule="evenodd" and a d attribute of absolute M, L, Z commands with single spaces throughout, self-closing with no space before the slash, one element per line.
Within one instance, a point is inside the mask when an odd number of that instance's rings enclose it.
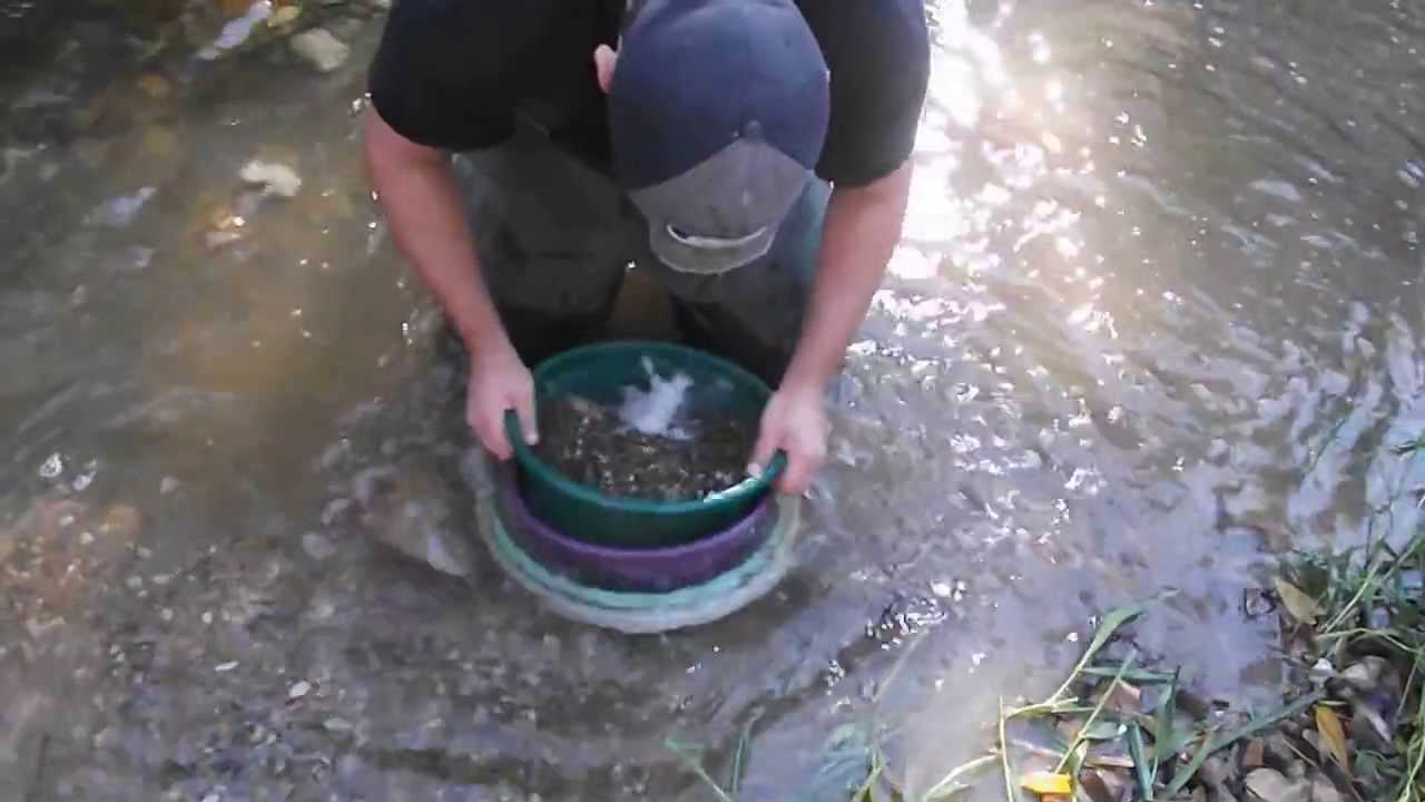
<path fill-rule="evenodd" d="M 486 283 L 527 364 L 596 333 L 637 268 L 668 291 L 687 342 L 778 384 L 817 270 L 825 183 L 808 184 L 765 257 L 691 275 L 653 255 L 647 223 L 607 176 L 539 133 L 522 128 L 453 164 Z"/>

